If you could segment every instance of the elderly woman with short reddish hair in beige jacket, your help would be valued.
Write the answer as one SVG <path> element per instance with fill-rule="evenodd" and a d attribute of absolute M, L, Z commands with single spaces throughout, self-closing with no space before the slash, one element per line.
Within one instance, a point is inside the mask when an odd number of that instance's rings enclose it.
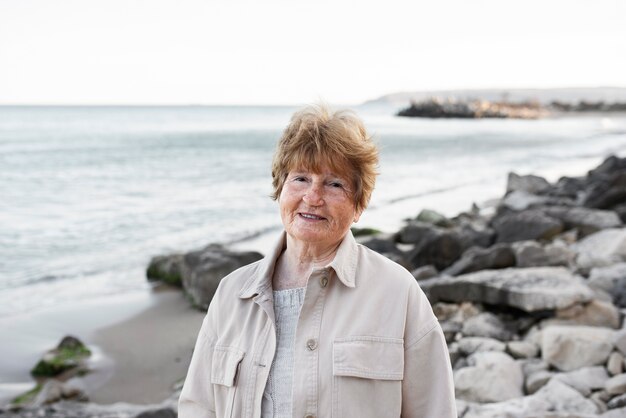
<path fill-rule="evenodd" d="M 378 151 L 362 122 L 297 112 L 272 164 L 285 228 L 225 277 L 179 417 L 456 417 L 446 342 L 411 274 L 355 242 Z"/>

